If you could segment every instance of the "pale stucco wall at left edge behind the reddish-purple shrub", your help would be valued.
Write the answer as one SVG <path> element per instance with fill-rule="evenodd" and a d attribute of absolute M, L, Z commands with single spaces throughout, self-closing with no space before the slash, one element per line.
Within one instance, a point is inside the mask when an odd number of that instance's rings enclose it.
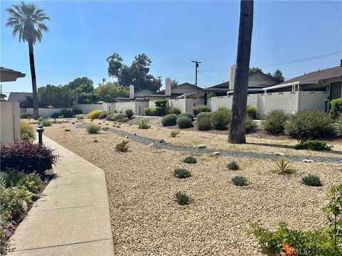
<path fill-rule="evenodd" d="M 1 138 L 3 144 L 20 141 L 20 110 L 19 102 L 0 102 Z"/>

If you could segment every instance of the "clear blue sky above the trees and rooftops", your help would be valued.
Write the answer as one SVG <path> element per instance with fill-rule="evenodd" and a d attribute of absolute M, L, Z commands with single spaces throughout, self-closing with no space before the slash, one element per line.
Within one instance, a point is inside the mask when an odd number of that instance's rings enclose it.
<path fill-rule="evenodd" d="M 1 1 L 1 66 L 26 78 L 3 83 L 3 92 L 31 91 L 28 46 L 5 27 Z M 229 80 L 237 55 L 239 1 L 36 1 L 51 21 L 34 47 L 38 87 L 64 85 L 87 76 L 98 85 L 108 78 L 105 59 L 119 53 L 130 65 L 135 55 L 152 60 L 150 73 L 202 87 Z M 341 1 L 256 1 L 251 67 L 279 68 L 286 79 L 339 65 Z M 338 53 L 323 58 L 282 63 Z"/>

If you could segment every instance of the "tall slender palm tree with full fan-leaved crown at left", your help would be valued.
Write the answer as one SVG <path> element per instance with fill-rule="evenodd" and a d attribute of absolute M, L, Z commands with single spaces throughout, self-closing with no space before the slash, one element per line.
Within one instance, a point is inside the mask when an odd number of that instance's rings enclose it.
<path fill-rule="evenodd" d="M 48 31 L 48 27 L 44 22 L 50 20 L 50 18 L 36 4 L 25 4 L 24 2 L 21 2 L 21 4 L 13 4 L 6 11 L 9 13 L 6 26 L 13 28 L 13 36 L 19 35 L 19 42 L 22 40 L 24 43 L 26 41 L 28 43 L 33 92 L 33 118 L 38 119 L 38 97 L 33 45 L 37 41 L 39 43 L 41 42 L 41 38 L 43 37 L 42 32 Z"/>

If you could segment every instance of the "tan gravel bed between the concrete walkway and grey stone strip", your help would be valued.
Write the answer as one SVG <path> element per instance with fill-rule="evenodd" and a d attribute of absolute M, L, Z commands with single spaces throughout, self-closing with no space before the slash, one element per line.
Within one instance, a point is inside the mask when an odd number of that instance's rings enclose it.
<path fill-rule="evenodd" d="M 195 153 L 191 155 L 197 164 L 185 164 L 182 159 L 189 153 L 149 147 L 129 138 L 130 150 L 120 153 L 115 144 L 125 138 L 110 131 L 87 134 L 77 124 L 53 124 L 44 134 L 105 171 L 119 256 L 263 255 L 248 234 L 250 223 L 265 228 L 275 228 L 281 221 L 290 228 L 323 225 L 326 193 L 342 182 L 341 164 L 334 163 L 292 162 L 296 174 L 281 176 L 272 173 L 274 160 Z M 167 129 L 165 136 L 169 133 Z M 239 171 L 227 169 L 233 160 Z M 175 178 L 176 168 L 188 169 L 192 176 Z M 323 186 L 302 185 L 306 174 L 320 176 Z M 231 178 L 236 175 L 246 176 L 249 186 L 234 186 Z M 177 205 L 177 191 L 190 196 L 190 205 Z"/>

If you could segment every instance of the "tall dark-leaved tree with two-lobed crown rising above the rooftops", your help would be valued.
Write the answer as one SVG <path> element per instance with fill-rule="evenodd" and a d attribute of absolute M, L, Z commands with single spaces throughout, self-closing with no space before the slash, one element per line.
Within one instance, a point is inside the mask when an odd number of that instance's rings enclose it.
<path fill-rule="evenodd" d="M 123 64 L 123 58 L 118 53 L 113 53 L 107 58 L 108 75 L 118 79 L 118 84 L 123 86 L 134 85 L 135 90 L 158 90 L 159 80 L 150 75 L 151 60 L 145 53 L 136 55 L 132 65 Z"/>

